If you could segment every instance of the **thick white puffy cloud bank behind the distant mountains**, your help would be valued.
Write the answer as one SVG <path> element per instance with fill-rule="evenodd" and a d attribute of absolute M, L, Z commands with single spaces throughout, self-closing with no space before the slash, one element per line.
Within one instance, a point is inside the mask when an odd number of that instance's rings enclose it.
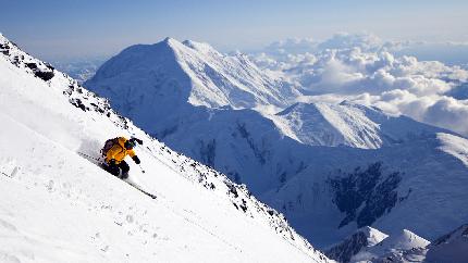
<path fill-rule="evenodd" d="M 338 34 L 275 42 L 251 59 L 299 88 L 301 101 L 347 99 L 468 136 L 468 72 L 402 54 L 405 45 Z"/>

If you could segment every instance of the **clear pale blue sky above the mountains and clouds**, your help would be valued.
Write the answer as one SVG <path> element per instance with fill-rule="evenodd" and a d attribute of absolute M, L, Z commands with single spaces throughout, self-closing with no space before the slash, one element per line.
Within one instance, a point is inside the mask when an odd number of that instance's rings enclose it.
<path fill-rule="evenodd" d="M 337 32 L 468 41 L 468 1 L 0 0 L 0 32 L 42 59 L 113 54 L 165 36 L 227 51 Z"/>

